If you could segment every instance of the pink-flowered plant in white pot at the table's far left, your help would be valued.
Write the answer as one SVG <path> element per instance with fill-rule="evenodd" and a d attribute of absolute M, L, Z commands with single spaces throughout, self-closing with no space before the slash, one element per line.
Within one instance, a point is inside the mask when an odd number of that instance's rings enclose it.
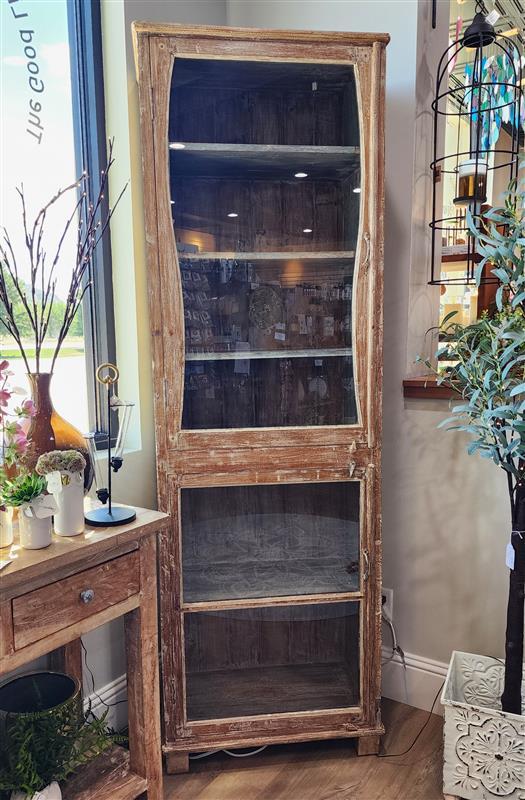
<path fill-rule="evenodd" d="M 23 427 L 24 420 L 34 414 L 31 400 L 24 400 L 11 410 L 14 394 L 21 390 L 9 384 L 12 372 L 8 361 L 0 362 L 0 548 L 13 543 L 13 509 L 1 501 L 1 486 L 8 476 L 16 474 L 17 463 L 27 448 L 27 438 Z"/>

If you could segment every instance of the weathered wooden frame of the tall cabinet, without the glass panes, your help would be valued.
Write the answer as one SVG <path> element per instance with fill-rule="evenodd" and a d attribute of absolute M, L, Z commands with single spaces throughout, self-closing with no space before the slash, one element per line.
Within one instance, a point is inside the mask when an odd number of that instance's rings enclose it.
<path fill-rule="evenodd" d="M 360 752 L 376 751 L 382 732 L 380 442 L 384 83 L 385 46 L 389 37 L 149 23 L 134 23 L 133 31 L 140 92 L 158 493 L 160 508 L 173 516 L 173 527 L 163 534 L 160 545 L 164 751 L 168 769 L 186 768 L 189 751 L 226 745 L 360 736 L 365 737 L 360 739 Z M 361 118 L 363 198 L 354 278 L 353 343 L 357 353 L 354 364 L 359 409 L 355 425 L 182 430 L 184 315 L 168 180 L 171 74 L 175 60 L 181 56 L 354 66 Z M 180 489 L 350 479 L 362 481 L 364 487 L 361 557 L 368 560 L 368 580 L 361 579 L 360 591 L 354 595 L 361 600 L 363 623 L 361 706 L 341 711 L 243 717 L 242 722 L 186 722 Z M 346 599 L 346 595 L 337 597 Z M 315 595 L 309 602 L 322 599 L 322 595 Z M 285 600 L 289 602 L 290 598 L 275 602 Z M 299 602 L 308 602 L 308 598 L 302 597 Z M 254 604 L 255 601 L 242 603 L 243 607 Z"/>

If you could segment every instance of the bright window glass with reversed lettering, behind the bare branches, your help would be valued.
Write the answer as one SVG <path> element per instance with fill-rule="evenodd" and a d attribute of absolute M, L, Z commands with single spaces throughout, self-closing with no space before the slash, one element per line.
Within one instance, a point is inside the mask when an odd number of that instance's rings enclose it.
<path fill-rule="evenodd" d="M 24 186 L 28 222 L 32 225 L 38 210 L 60 187 L 74 183 L 78 173 L 75 164 L 68 2 L 26 0 L 23 5 L 25 14 L 18 6 L 0 4 L 0 92 L 3 111 L 0 207 L 2 226 L 9 231 L 18 256 L 20 277 L 29 287 L 29 259 L 16 187 Z M 20 19 L 16 18 L 17 14 Z M 27 29 L 23 40 L 21 29 Z M 31 57 L 33 52 L 36 55 Z M 75 197 L 67 194 L 58 201 L 56 211 L 49 212 L 46 216 L 42 249 L 48 254 L 48 274 L 64 225 L 75 202 Z M 75 230 L 76 226 L 73 224 L 64 239 L 60 260 L 54 272 L 55 297 L 41 353 L 40 372 L 51 369 L 52 356 L 64 317 L 71 276 L 70 265 L 74 263 L 76 255 Z M 28 293 L 30 294 L 29 289 Z M 41 296 L 42 291 L 38 285 L 38 303 Z M 22 303 L 19 300 L 17 302 L 14 294 L 13 298 L 24 351 L 31 370 L 34 370 L 34 333 Z M 0 326 L 0 360 L 4 358 L 9 361 L 10 369 L 14 373 L 12 383 L 29 394 L 27 367 L 18 345 L 5 328 Z M 57 412 L 81 431 L 87 431 L 88 388 L 81 312 L 77 314 L 55 362 L 51 392 Z"/>

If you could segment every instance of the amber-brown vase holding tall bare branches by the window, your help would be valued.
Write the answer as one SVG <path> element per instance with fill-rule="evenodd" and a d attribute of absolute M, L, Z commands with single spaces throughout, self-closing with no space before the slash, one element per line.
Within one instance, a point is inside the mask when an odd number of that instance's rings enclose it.
<path fill-rule="evenodd" d="M 83 172 L 70 186 L 60 189 L 34 220 L 29 221 L 24 188 L 17 188 L 21 206 L 21 227 L 24 246 L 17 250 L 14 242 L 18 234 L 11 237 L 4 230 L 0 242 L 0 323 L 13 338 L 27 369 L 35 414 L 28 431 L 28 448 L 25 455 L 26 466 L 34 469 L 38 456 L 49 450 L 76 449 L 86 457 L 85 486 L 88 489 L 93 479 L 91 465 L 84 437 L 73 425 L 62 419 L 53 408 L 50 383 L 53 369 L 60 349 L 69 333 L 73 320 L 79 310 L 85 293 L 91 285 L 88 277 L 93 269 L 93 256 L 109 225 L 113 212 L 122 197 L 122 190 L 113 208 L 107 207 L 105 199 L 108 187 L 108 174 L 114 163 L 113 141 L 109 142 L 108 160 L 102 170 L 97 192 L 92 191 L 90 176 Z M 71 211 L 68 212 L 62 231 L 56 241 L 46 237 L 46 222 L 56 214 L 56 204 L 64 195 L 75 194 Z M 60 203 L 59 203 L 60 206 Z M 56 227 L 56 226 L 55 226 Z M 60 327 L 56 341 L 50 342 L 52 348 L 51 368 L 42 371 L 42 351 L 48 338 L 49 323 L 53 308 L 57 308 L 56 271 L 63 261 L 62 246 L 68 236 L 75 240 L 71 277 L 63 311 L 60 311 Z M 47 238 L 47 243 L 46 243 Z M 29 265 L 28 274 L 21 268 Z M 31 330 L 32 342 L 28 345 L 20 326 L 19 314 L 26 318 Z M 30 350 L 34 351 L 34 359 Z"/>

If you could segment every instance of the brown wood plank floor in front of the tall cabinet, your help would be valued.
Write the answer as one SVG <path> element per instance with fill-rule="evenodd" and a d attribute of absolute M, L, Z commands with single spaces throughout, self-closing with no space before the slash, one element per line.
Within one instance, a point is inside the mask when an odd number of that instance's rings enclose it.
<path fill-rule="evenodd" d="M 383 701 L 383 752 L 400 753 L 425 711 Z M 269 747 L 250 758 L 217 754 L 166 776 L 166 800 L 443 800 L 441 717 L 399 758 L 358 758 L 348 740 Z"/>

